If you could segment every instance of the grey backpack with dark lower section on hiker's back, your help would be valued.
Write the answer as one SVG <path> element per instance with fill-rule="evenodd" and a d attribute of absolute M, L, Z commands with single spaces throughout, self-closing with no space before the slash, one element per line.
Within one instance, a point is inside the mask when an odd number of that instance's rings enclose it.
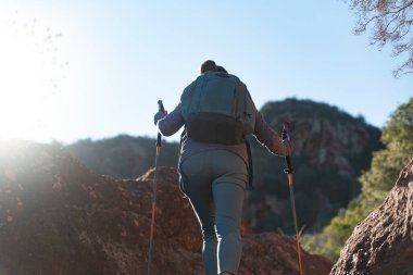
<path fill-rule="evenodd" d="M 245 142 L 255 126 L 255 105 L 247 86 L 235 75 L 206 72 L 180 97 L 187 136 L 222 145 Z"/>

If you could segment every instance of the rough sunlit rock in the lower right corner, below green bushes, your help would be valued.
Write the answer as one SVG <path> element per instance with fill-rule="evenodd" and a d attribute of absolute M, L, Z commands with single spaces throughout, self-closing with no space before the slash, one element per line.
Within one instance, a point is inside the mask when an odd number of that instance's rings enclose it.
<path fill-rule="evenodd" d="M 413 160 L 385 202 L 353 230 L 330 275 L 413 274 Z"/>

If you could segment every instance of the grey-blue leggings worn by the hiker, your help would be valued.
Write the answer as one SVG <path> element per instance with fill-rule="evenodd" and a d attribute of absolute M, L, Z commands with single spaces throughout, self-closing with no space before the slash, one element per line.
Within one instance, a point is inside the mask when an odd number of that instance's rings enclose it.
<path fill-rule="evenodd" d="M 238 273 L 241 260 L 241 215 L 248 183 L 247 164 L 226 150 L 189 157 L 180 165 L 182 188 L 202 228 L 206 275 Z"/>

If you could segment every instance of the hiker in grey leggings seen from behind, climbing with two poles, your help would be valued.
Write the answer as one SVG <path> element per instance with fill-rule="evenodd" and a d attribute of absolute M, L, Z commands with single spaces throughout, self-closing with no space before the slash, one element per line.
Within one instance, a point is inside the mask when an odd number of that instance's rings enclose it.
<path fill-rule="evenodd" d="M 251 133 L 268 151 L 277 155 L 288 155 L 292 147 L 290 141 L 283 141 L 256 111 L 247 87 L 236 76 L 227 74 L 225 68 L 216 66 L 214 61 L 205 61 L 200 68 L 201 75 L 183 92 L 179 104 L 168 114 L 158 112 L 154 123 L 163 136 L 175 134 L 185 126 L 186 135 L 182 138 L 179 157 L 179 187 L 189 198 L 195 214 L 201 225 L 203 236 L 202 260 L 206 275 L 236 275 L 241 259 L 241 215 L 245 190 L 249 184 L 251 158 L 242 136 L 242 141 L 220 140 L 205 142 L 214 125 L 190 126 L 191 116 L 187 115 L 188 95 L 202 87 L 197 85 L 204 77 L 223 77 L 227 83 L 237 83 L 243 87 L 252 108 Z M 218 79 L 220 80 L 220 79 Z M 220 83 L 220 82 L 217 82 Z M 216 89 L 220 87 L 217 86 Z M 233 92 L 233 91 L 231 91 Z M 193 95 L 192 95 L 193 96 Z M 212 101 L 218 103 L 215 101 Z M 193 108 L 193 107 L 192 107 Z M 188 120 L 189 117 L 189 120 Z M 210 122 L 211 123 L 211 120 Z M 214 123 L 214 120 L 212 120 Z M 195 129 L 205 132 L 198 135 Z M 224 129 L 224 132 L 226 128 Z M 220 134 L 220 133 L 218 133 Z M 189 136 L 189 137 L 188 137 Z M 209 137 L 205 137 L 206 140 Z M 239 138 L 238 138 L 239 139 Z M 199 141 L 203 140 L 203 141 Z M 252 171 L 250 171 L 252 173 Z"/>

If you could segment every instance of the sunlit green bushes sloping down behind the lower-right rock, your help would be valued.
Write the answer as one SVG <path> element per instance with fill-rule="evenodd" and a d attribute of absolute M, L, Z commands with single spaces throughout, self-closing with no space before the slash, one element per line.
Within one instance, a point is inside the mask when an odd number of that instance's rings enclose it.
<path fill-rule="evenodd" d="M 413 158 L 412 137 L 413 98 L 390 115 L 381 133 L 386 148 L 373 154 L 371 170 L 360 177 L 361 195 L 350 202 L 347 210 L 340 211 L 321 234 L 302 238 L 309 251 L 337 260 L 354 226 L 384 201 L 401 168 Z"/>

